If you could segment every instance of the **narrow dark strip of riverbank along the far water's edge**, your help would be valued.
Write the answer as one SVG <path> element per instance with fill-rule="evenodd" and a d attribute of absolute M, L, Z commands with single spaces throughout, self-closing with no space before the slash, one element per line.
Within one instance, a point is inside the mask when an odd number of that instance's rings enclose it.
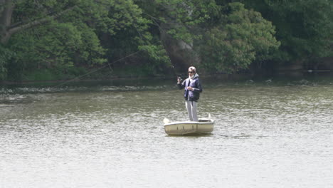
<path fill-rule="evenodd" d="M 183 79 L 185 75 L 181 76 Z M 328 83 L 332 80 L 332 73 L 305 73 L 302 75 L 275 75 L 275 76 L 253 76 L 250 74 L 217 74 L 217 75 L 201 75 L 201 80 L 205 83 L 287 83 L 289 81 L 296 81 L 301 83 L 309 82 L 322 82 Z M 112 85 L 142 85 L 144 83 L 154 82 L 156 85 L 163 84 L 164 82 L 172 82 L 176 80 L 175 75 L 171 76 L 127 76 L 127 77 L 109 77 L 109 78 L 96 78 L 96 79 L 71 79 L 71 80 L 26 80 L 26 81 L 2 81 L 0 86 L 48 86 L 48 87 L 63 87 L 65 85 L 94 85 L 100 83 Z"/>

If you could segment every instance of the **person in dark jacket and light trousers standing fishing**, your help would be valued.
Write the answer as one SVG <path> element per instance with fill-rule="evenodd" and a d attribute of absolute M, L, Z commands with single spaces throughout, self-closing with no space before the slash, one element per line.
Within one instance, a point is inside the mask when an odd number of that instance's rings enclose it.
<path fill-rule="evenodd" d="M 177 81 L 179 89 L 184 88 L 185 106 L 189 114 L 189 120 L 198 121 L 196 108 L 202 88 L 196 68 L 194 66 L 189 67 L 189 78 L 186 78 L 182 83 L 181 78 L 178 78 Z"/>

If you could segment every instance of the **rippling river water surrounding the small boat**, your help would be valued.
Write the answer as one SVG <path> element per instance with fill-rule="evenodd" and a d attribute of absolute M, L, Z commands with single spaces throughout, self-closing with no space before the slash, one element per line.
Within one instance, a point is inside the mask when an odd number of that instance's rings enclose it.
<path fill-rule="evenodd" d="M 0 187 L 333 187 L 333 81 L 201 80 L 211 135 L 174 80 L 0 88 Z"/>

